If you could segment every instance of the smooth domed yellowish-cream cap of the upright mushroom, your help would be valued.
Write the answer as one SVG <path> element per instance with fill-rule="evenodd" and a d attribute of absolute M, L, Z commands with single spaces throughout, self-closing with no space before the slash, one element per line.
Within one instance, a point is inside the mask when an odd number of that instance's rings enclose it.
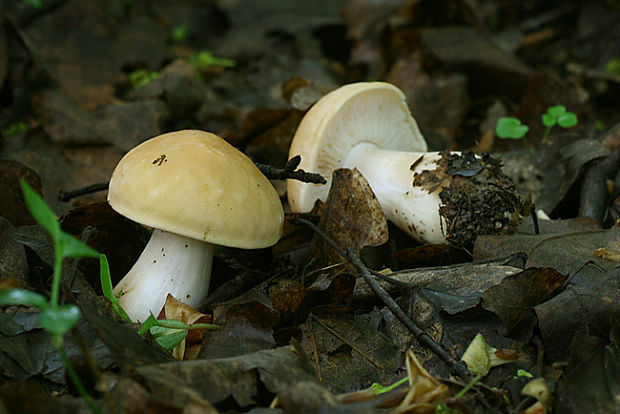
<path fill-rule="evenodd" d="M 280 198 L 256 165 L 217 135 L 196 130 L 129 151 L 112 174 L 108 202 L 138 223 L 245 249 L 275 244 L 284 222 Z"/>

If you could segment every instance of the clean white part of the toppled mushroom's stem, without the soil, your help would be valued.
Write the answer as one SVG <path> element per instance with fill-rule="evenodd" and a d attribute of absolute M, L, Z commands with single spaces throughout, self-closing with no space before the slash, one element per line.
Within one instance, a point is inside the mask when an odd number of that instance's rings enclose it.
<path fill-rule="evenodd" d="M 429 193 L 414 187 L 413 176 L 435 170 L 440 158 L 439 152 L 385 150 L 363 143 L 351 149 L 344 167 L 362 173 L 388 220 L 419 241 L 439 244 L 446 241 L 439 214 L 441 188 Z"/>

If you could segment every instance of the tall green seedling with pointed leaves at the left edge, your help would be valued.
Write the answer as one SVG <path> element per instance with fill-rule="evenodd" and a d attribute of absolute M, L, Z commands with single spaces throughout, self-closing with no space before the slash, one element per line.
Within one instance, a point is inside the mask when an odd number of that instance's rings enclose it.
<path fill-rule="evenodd" d="M 97 251 L 62 231 L 58 219 L 41 196 L 24 180 L 20 181 L 20 185 L 30 214 L 50 234 L 54 244 L 55 261 L 52 291 L 48 300 L 45 296 L 26 289 L 4 289 L 0 291 L 0 305 L 30 305 L 39 308 L 39 324 L 51 334 L 52 344 L 60 355 L 75 388 L 82 395 L 90 409 L 94 413 L 99 413 L 98 407 L 90 395 L 88 395 L 79 376 L 67 358 L 63 346 L 64 334 L 69 332 L 80 320 L 80 308 L 72 303 L 60 305 L 59 293 L 60 275 L 64 259 L 78 257 L 98 258 L 100 255 Z"/>

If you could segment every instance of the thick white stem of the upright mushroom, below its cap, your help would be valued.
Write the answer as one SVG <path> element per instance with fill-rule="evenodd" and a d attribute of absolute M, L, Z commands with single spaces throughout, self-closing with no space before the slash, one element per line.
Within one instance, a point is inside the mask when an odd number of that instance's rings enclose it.
<path fill-rule="evenodd" d="M 114 288 L 119 303 L 135 322 L 157 317 L 171 294 L 198 306 L 209 290 L 214 245 L 155 229 L 131 270 Z"/>

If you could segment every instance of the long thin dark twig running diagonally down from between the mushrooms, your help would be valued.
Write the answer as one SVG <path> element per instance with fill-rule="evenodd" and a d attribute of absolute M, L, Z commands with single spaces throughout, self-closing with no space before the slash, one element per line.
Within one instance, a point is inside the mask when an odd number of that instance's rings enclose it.
<path fill-rule="evenodd" d="M 422 328 L 417 326 L 415 322 L 413 322 L 407 314 L 401 309 L 401 307 L 396 303 L 394 299 L 381 287 L 379 282 L 375 278 L 372 277 L 372 274 L 368 270 L 368 268 L 362 263 L 359 256 L 351 249 L 347 249 L 345 252 L 342 250 L 340 246 L 334 242 L 331 237 L 329 237 L 325 232 L 319 229 L 314 223 L 295 217 L 294 220 L 298 221 L 301 224 L 304 224 L 314 230 L 319 236 L 323 238 L 331 247 L 338 252 L 343 258 L 350 261 L 358 270 L 360 275 L 364 278 L 368 286 L 379 296 L 385 305 L 396 315 L 398 319 L 409 329 L 424 345 L 426 345 L 431 351 L 433 351 L 439 358 L 441 358 L 446 364 L 448 364 L 454 374 L 461 377 L 465 381 L 470 381 L 471 376 L 467 371 L 465 364 L 462 361 L 456 361 L 452 355 L 445 349 L 443 349 L 439 344 L 437 344 L 433 339 L 426 333 Z"/>

